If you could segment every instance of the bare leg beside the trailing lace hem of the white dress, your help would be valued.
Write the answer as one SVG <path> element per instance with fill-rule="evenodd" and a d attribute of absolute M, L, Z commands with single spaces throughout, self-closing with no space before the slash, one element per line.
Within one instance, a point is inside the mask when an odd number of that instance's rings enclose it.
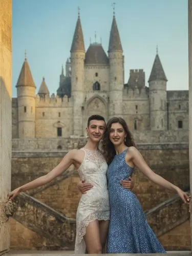
<path fill-rule="evenodd" d="M 99 235 L 99 221 L 95 220 L 89 223 L 86 228 L 86 234 L 84 235 L 84 242 L 88 253 L 102 253 L 102 245 Z"/>

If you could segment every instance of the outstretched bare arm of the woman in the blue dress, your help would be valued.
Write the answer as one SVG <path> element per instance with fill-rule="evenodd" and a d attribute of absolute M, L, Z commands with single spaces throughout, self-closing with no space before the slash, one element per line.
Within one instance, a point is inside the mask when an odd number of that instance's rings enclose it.
<path fill-rule="evenodd" d="M 184 203 L 189 202 L 188 196 L 179 187 L 175 186 L 174 184 L 170 183 L 169 181 L 165 180 L 164 178 L 153 172 L 153 170 L 147 165 L 136 147 L 130 147 L 129 153 L 135 166 L 137 166 L 141 170 L 141 172 L 147 176 L 148 179 L 150 179 L 152 182 L 159 186 L 178 193 Z"/>

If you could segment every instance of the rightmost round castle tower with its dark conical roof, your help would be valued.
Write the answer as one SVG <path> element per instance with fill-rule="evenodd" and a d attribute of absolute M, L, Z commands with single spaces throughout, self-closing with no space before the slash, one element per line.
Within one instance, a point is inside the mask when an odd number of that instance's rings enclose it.
<path fill-rule="evenodd" d="M 151 130 L 167 130 L 166 82 L 158 51 L 148 79 L 150 88 L 150 120 Z"/>

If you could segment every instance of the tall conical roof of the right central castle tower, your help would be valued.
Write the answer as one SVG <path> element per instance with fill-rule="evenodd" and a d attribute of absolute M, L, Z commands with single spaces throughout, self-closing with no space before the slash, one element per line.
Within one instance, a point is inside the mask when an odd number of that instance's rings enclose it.
<path fill-rule="evenodd" d="M 111 32 L 110 32 L 110 42 L 109 42 L 109 52 L 114 52 L 114 51 L 122 51 L 122 46 L 121 46 L 121 40 L 119 36 L 119 31 L 117 28 L 117 23 L 115 19 L 115 15 L 113 15 L 113 22 L 111 26 Z"/>

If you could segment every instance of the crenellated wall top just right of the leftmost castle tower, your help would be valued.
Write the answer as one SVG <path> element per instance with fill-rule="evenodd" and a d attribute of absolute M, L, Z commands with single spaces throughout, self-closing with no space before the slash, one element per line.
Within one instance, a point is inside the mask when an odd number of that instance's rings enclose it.
<path fill-rule="evenodd" d="M 72 108 L 73 107 L 73 98 L 68 98 L 68 96 L 64 96 L 63 98 L 58 97 L 55 94 L 52 94 L 51 97 L 49 95 L 46 95 L 45 98 L 39 97 L 37 94 L 35 97 L 35 105 L 41 106 L 41 107 L 58 107 L 58 108 Z"/>

